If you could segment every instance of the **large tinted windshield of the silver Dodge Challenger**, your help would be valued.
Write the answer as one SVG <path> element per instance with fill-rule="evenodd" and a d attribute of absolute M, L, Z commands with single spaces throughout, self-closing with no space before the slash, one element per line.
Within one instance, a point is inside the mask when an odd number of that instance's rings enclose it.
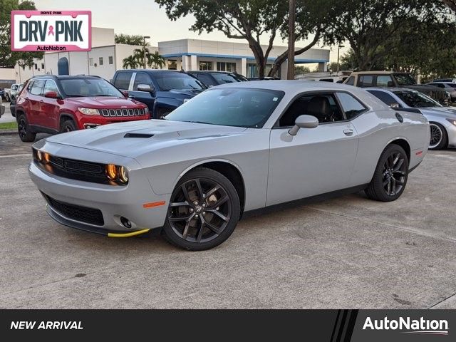
<path fill-rule="evenodd" d="M 261 128 L 284 92 L 247 88 L 206 90 L 165 116 L 165 120 Z"/>

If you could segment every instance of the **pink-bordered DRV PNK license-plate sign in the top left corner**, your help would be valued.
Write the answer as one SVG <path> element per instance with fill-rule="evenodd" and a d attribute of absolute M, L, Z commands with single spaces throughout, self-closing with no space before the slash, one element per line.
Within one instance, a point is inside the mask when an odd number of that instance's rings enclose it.
<path fill-rule="evenodd" d="M 11 11 L 11 51 L 91 49 L 91 11 Z"/>

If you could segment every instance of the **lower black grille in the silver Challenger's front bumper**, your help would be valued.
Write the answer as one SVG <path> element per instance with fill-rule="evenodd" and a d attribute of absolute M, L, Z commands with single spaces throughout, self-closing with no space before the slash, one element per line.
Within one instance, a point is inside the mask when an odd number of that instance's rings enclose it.
<path fill-rule="evenodd" d="M 100 209 L 93 209 L 88 207 L 81 207 L 75 204 L 69 204 L 65 202 L 53 199 L 46 194 L 43 194 L 44 198 L 52 209 L 56 210 L 59 214 L 62 214 L 68 219 L 74 219 L 78 222 L 84 222 L 88 224 L 94 224 L 95 226 L 103 226 L 105 221 L 103 214 Z"/>

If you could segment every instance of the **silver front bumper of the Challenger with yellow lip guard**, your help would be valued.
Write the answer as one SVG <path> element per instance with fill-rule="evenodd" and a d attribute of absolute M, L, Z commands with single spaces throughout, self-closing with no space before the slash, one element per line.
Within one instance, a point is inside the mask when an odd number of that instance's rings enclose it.
<path fill-rule="evenodd" d="M 162 227 L 167 214 L 170 195 L 155 195 L 147 177 L 141 176 L 141 169 L 130 172 L 130 182 L 126 186 L 104 185 L 81 180 L 71 180 L 53 175 L 34 162 L 28 167 L 31 180 L 47 201 L 47 212 L 57 222 L 76 229 L 105 234 L 126 236 L 147 232 Z M 55 202 L 97 209 L 103 215 L 101 222 L 83 222 L 61 207 L 53 207 Z M 157 206 L 145 204 L 160 203 Z M 122 217 L 130 221 L 125 227 Z"/>

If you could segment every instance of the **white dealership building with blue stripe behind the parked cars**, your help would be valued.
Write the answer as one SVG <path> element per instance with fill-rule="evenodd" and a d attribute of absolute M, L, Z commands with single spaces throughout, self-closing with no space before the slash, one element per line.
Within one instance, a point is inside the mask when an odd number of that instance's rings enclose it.
<path fill-rule="evenodd" d="M 150 52 L 158 51 L 165 58 L 164 69 L 170 70 L 213 70 L 232 71 L 247 77 L 257 76 L 257 65 L 247 43 L 206 41 L 201 39 L 179 39 L 162 41 L 158 46 L 148 46 Z M 123 68 L 123 59 L 132 55 L 136 48 L 116 44 L 113 28 L 92 28 L 92 51 L 46 52 L 42 59 L 36 58 L 31 67 L 16 66 L 14 77 L 21 83 L 36 75 L 58 74 L 58 61 L 68 60 L 71 75 L 96 75 L 110 80 L 115 71 Z M 266 49 L 266 46 L 264 46 Z M 286 46 L 274 46 L 271 50 L 266 72 L 271 68 L 276 56 L 286 51 Z M 318 63 L 319 71 L 326 71 L 329 49 L 311 48 L 296 56 L 295 63 Z M 286 77 L 285 62 L 279 76 Z"/>

